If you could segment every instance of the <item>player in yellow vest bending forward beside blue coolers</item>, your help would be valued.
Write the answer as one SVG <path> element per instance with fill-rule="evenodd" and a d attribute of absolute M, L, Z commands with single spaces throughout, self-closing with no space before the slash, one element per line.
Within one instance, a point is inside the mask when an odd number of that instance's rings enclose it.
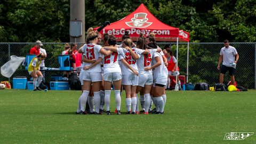
<path fill-rule="evenodd" d="M 41 61 L 44 59 L 45 59 L 45 55 L 43 53 L 40 53 L 35 58 L 33 58 L 28 65 L 28 73 L 33 77 L 34 91 L 41 91 L 41 89 L 39 88 L 39 85 L 42 82 L 43 75 L 38 68 L 41 64 Z M 37 82 L 37 78 L 38 78 L 38 82 Z"/>

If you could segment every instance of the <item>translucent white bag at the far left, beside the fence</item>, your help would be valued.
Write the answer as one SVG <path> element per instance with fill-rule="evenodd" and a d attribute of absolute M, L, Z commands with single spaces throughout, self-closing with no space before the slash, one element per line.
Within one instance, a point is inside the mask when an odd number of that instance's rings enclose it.
<path fill-rule="evenodd" d="M 12 55 L 11 60 L 6 62 L 1 67 L 1 74 L 5 77 L 11 77 L 25 59 L 25 57 L 17 57 L 15 55 Z"/>

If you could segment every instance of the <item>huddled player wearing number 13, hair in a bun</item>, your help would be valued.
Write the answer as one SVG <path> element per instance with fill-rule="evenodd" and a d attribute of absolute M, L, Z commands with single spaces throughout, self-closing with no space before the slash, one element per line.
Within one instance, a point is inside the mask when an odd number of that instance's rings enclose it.
<path fill-rule="evenodd" d="M 90 44 L 85 44 L 81 46 L 78 50 L 79 53 L 84 52 L 87 60 L 96 61 L 92 64 L 89 62 L 85 62 L 84 68 L 85 72 L 83 75 L 83 93 L 81 97 L 81 113 L 84 113 L 84 106 L 87 101 L 87 97 L 89 95 L 91 84 L 93 86 L 93 94 L 94 94 L 94 107 L 95 114 L 99 113 L 100 108 L 100 85 L 102 81 L 101 77 L 101 66 L 100 61 L 102 60 L 103 55 L 109 55 L 112 51 L 104 50 L 98 43 L 98 34 L 93 31 L 93 28 L 89 28 L 87 31 L 87 38 L 89 39 Z M 98 63 L 99 62 L 99 63 Z"/>

